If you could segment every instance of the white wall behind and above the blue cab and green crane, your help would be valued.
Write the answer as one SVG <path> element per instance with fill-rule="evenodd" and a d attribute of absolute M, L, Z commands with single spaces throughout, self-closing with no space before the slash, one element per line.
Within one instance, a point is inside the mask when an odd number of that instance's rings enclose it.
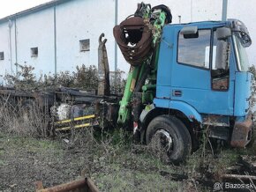
<path fill-rule="evenodd" d="M 137 9 L 137 4 L 141 0 L 119 0 L 118 6 L 118 23 L 120 23 L 128 15 L 131 15 Z M 222 0 L 147 0 L 147 4 L 155 6 L 157 4 L 165 4 L 169 6 L 172 13 L 173 23 L 178 23 L 178 16 L 181 16 L 182 23 L 189 23 L 204 20 L 222 20 Z M 256 65 L 256 47 L 254 41 L 256 40 L 256 11 L 255 0 L 229 0 L 227 18 L 237 18 L 245 23 L 250 35 L 252 37 L 252 46 L 247 48 L 247 55 L 250 64 Z M 118 50 L 118 67 L 122 70 L 128 71 L 129 65 L 124 64 L 124 58 Z"/>

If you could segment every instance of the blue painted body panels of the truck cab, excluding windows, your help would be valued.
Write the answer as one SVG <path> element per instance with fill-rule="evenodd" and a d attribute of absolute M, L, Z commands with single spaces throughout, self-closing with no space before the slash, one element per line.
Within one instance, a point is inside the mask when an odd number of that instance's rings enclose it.
<path fill-rule="evenodd" d="M 213 29 L 228 26 L 229 22 L 198 22 L 184 25 L 169 25 L 163 28 L 158 61 L 156 85 L 156 107 L 177 109 L 192 121 L 193 116 L 202 122 L 203 114 L 245 117 L 249 111 L 252 74 L 237 70 L 237 59 L 233 43 L 230 43 L 229 89 L 212 89 L 210 69 L 197 68 L 177 63 L 178 33 L 184 26 Z M 229 39 L 232 42 L 232 39 Z M 210 62 L 211 64 L 211 62 Z M 180 94 L 176 95 L 175 92 Z"/>

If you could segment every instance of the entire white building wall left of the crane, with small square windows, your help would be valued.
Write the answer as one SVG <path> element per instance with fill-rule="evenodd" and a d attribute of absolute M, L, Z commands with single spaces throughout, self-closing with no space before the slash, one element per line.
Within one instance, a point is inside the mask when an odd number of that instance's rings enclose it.
<path fill-rule="evenodd" d="M 114 6 L 113 0 L 73 0 L 56 6 L 56 20 L 54 7 L 19 17 L 11 20 L 11 44 L 9 22 L 0 24 L 0 52 L 4 51 L 0 83 L 1 76 L 15 74 L 19 65 L 32 65 L 37 78 L 54 74 L 55 68 L 56 72 L 72 72 L 77 65 L 97 65 L 101 33 L 108 39 L 110 70 L 114 70 Z M 97 11 L 100 8 L 102 11 Z M 81 52 L 79 41 L 85 39 L 90 39 L 90 50 Z M 31 56 L 31 48 L 38 48 L 38 56 Z M 15 63 L 19 64 L 18 69 Z"/>

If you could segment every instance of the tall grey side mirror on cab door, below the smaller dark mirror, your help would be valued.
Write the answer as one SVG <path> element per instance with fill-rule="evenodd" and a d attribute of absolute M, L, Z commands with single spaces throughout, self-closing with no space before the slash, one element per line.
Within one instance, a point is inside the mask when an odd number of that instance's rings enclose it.
<path fill-rule="evenodd" d="M 230 42 L 218 41 L 216 48 L 216 70 L 228 70 L 230 63 Z"/>

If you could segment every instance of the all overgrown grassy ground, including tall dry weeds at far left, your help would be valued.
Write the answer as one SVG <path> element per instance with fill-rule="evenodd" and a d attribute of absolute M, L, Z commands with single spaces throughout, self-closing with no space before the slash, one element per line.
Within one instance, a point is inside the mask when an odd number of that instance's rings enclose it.
<path fill-rule="evenodd" d="M 101 191 L 201 191 L 198 178 L 207 180 L 211 174 L 210 179 L 220 181 L 218 176 L 241 153 L 222 150 L 213 155 L 202 144 L 185 165 L 172 166 L 162 162 L 159 141 L 134 145 L 131 133 L 123 129 L 73 129 L 55 140 L 38 139 L 49 135 L 48 114 L 35 103 L 29 110 L 19 108 L 8 97 L 0 102 L 0 191 L 32 191 L 34 181 L 50 187 L 80 176 L 92 178 Z M 169 174 L 189 179 L 172 181 Z"/>

